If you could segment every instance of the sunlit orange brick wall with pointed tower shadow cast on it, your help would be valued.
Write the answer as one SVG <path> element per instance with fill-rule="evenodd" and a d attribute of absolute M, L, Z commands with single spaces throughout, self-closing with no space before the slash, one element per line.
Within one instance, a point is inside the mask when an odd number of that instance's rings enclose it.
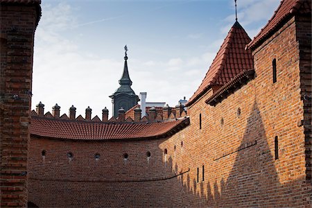
<path fill-rule="evenodd" d="M 254 80 L 216 106 L 205 103 L 207 92 L 189 107 L 191 125 L 161 145 L 178 171 L 190 168 L 183 185 L 193 206 L 311 206 L 294 19 L 254 51 Z"/>

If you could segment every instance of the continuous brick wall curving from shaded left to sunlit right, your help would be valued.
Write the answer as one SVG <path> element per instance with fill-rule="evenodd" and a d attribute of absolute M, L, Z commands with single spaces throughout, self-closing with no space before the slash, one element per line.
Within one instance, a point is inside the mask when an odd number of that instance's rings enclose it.
<path fill-rule="evenodd" d="M 32 137 L 29 200 L 40 207 L 311 207 L 309 123 L 301 125 L 311 118 L 309 102 L 302 99 L 303 92 L 311 92 L 303 73 L 311 60 L 300 60 L 311 53 L 300 45 L 311 30 L 303 29 L 309 20 L 294 20 L 255 49 L 253 80 L 216 106 L 205 103 L 212 93 L 207 92 L 189 107 L 191 125 L 170 138 Z M 101 154 L 97 162 L 96 153 Z M 123 153 L 129 155 L 126 163 Z"/>

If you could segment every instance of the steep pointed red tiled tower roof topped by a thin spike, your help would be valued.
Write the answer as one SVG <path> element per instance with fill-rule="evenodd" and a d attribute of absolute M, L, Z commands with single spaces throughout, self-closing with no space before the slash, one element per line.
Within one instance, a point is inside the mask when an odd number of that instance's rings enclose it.
<path fill-rule="evenodd" d="M 225 85 L 236 74 L 253 68 L 252 53 L 245 50 L 250 40 L 241 24 L 236 21 L 225 37 L 200 87 L 187 102 L 187 106 L 207 92 L 211 85 Z"/>

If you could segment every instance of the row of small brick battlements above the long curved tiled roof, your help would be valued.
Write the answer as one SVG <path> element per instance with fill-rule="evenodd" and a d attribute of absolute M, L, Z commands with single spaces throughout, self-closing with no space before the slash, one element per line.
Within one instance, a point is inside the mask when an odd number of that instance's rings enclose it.
<path fill-rule="evenodd" d="M 69 114 L 60 115 L 60 106 L 56 103 L 52 107 L 52 112 L 44 113 L 44 104 L 40 101 L 36 105 L 36 110 L 31 111 L 31 116 L 40 116 L 45 118 L 54 118 L 62 120 L 73 120 L 73 121 L 90 121 L 90 122 L 105 122 L 105 123 L 143 123 L 143 122 L 162 122 L 162 121 L 172 121 L 180 118 L 185 118 L 187 116 L 187 110 L 184 110 L 184 105 L 179 104 L 175 107 L 169 107 L 168 105 L 164 107 L 146 107 L 146 116 L 141 117 L 141 109 L 139 105 L 135 105 L 130 108 L 127 112 L 121 107 L 118 110 L 118 117 L 112 116 L 108 119 L 109 111 L 105 107 L 102 110 L 102 118 L 99 116 L 94 116 L 92 118 L 92 108 L 89 106 L 85 109 L 85 117 L 81 114 L 76 116 L 76 107 L 71 105 L 69 107 Z"/>

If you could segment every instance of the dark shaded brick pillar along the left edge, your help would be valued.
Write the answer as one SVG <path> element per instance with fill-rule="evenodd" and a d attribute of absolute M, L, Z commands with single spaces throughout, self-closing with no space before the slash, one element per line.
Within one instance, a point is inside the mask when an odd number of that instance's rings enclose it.
<path fill-rule="evenodd" d="M 26 207 L 28 125 L 37 7 L 0 6 L 1 207 Z M 17 95 L 17 96 L 14 96 Z"/>

